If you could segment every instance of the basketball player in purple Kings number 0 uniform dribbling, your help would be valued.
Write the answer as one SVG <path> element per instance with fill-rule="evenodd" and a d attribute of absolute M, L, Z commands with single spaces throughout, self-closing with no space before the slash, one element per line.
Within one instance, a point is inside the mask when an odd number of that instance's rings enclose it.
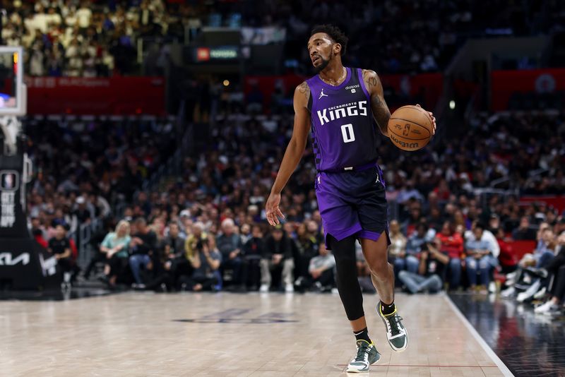
<path fill-rule="evenodd" d="M 318 72 L 295 90 L 295 125 L 283 162 L 266 203 L 270 225 L 279 224 L 280 192 L 302 157 L 312 128 L 316 155 L 316 196 L 326 246 L 333 251 L 337 284 L 356 337 L 357 354 L 348 372 L 365 372 L 381 355 L 371 342 L 357 282 L 355 241 L 359 239 L 371 279 L 381 301 L 376 311 L 386 325 L 388 344 L 396 352 L 408 346 L 408 332 L 394 304 L 393 266 L 387 261 L 387 206 L 383 172 L 376 164 L 377 130 L 388 137 L 391 113 L 374 71 L 345 68 L 347 37 L 332 25 L 316 26 L 308 52 Z M 435 119 L 429 113 L 435 129 Z M 376 126 L 374 122 L 376 121 Z"/>

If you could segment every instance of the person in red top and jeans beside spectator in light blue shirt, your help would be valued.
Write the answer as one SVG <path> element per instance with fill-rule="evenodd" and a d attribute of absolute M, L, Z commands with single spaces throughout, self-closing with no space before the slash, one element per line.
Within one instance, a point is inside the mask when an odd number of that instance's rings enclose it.
<path fill-rule="evenodd" d="M 457 289 L 461 282 L 461 255 L 463 254 L 463 237 L 456 232 L 453 222 L 446 221 L 441 232 L 436 235 L 439 251 L 449 257 L 449 288 Z"/>

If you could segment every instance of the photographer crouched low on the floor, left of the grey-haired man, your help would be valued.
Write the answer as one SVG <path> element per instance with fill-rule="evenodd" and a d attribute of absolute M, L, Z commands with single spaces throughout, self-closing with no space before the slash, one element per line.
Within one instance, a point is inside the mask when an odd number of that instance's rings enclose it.
<path fill-rule="evenodd" d="M 215 239 L 210 237 L 196 244 L 194 255 L 189 259 L 194 269 L 190 277 L 180 278 L 182 289 L 187 291 L 213 291 L 220 282 L 218 268 L 222 262 L 222 254 L 215 245 Z"/>

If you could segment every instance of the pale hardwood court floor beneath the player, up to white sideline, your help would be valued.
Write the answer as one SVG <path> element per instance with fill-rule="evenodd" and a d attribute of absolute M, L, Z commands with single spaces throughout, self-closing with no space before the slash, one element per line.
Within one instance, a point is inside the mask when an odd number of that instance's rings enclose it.
<path fill-rule="evenodd" d="M 382 354 L 371 376 L 511 375 L 444 294 L 397 294 L 410 340 L 400 354 L 376 300 L 364 297 Z M 337 294 L 2 301 L 0 328 L 0 376 L 345 376 L 355 353 Z"/>

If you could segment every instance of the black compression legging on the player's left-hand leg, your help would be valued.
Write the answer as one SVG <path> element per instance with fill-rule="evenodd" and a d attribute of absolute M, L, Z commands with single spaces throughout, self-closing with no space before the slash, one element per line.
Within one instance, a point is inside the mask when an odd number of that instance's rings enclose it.
<path fill-rule="evenodd" d="M 363 295 L 357 280 L 357 258 L 355 257 L 355 237 L 350 236 L 338 241 L 328 234 L 328 245 L 335 258 L 335 280 L 338 284 L 341 302 L 350 321 L 365 315 Z"/>

